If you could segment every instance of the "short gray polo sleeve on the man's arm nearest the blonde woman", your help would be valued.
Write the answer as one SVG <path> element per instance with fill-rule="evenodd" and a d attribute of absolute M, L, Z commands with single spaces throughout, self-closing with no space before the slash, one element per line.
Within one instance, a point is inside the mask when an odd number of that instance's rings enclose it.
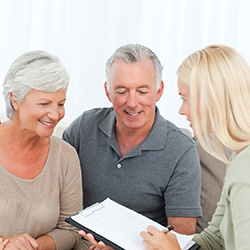
<path fill-rule="evenodd" d="M 178 152 L 176 153 L 176 155 Z M 181 154 L 164 193 L 168 217 L 199 217 L 201 171 L 195 143 Z"/>

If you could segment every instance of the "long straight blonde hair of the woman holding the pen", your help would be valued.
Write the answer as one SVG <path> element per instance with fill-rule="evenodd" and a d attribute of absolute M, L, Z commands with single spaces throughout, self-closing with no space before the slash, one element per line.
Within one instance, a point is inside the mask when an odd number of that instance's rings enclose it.
<path fill-rule="evenodd" d="M 229 163 L 224 146 L 250 145 L 250 67 L 234 49 L 212 45 L 180 65 L 179 78 L 190 87 L 193 128 L 201 145 Z"/>

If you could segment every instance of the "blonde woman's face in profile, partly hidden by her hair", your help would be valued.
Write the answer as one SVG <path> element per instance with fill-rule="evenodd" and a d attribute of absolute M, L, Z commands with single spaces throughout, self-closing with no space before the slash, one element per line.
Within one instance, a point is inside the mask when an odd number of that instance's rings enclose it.
<path fill-rule="evenodd" d="M 179 114 L 185 115 L 189 121 L 189 126 L 192 127 L 191 109 L 190 109 L 190 88 L 178 77 L 178 90 L 182 99 L 182 104 L 179 109 Z"/>

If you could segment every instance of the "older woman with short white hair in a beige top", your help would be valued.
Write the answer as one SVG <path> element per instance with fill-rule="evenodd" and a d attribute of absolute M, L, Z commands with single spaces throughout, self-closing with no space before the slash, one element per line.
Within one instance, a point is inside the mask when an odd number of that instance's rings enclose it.
<path fill-rule="evenodd" d="M 78 156 L 51 136 L 65 114 L 68 84 L 58 59 L 43 51 L 21 55 L 5 77 L 9 121 L 0 125 L 0 237 L 8 240 L 6 250 L 73 249 L 79 241 L 65 222 L 82 209 Z"/>

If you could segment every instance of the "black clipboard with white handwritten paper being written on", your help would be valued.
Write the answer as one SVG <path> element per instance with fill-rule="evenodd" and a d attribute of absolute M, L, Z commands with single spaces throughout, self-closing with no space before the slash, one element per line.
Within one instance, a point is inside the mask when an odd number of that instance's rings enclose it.
<path fill-rule="evenodd" d="M 86 233 L 92 233 L 96 240 L 103 241 L 114 249 L 145 250 L 140 237 L 141 231 L 146 231 L 152 225 L 159 230 L 165 229 L 159 223 L 107 198 L 96 203 L 66 221 Z M 173 232 L 181 249 L 198 249 L 192 241 L 192 235 L 182 235 Z"/>

